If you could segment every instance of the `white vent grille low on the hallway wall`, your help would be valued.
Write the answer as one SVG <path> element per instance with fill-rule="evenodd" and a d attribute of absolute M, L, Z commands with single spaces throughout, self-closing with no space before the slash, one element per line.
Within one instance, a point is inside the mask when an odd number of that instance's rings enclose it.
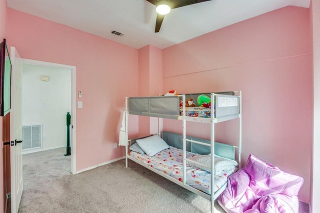
<path fill-rule="evenodd" d="M 42 147 L 42 124 L 22 126 L 22 150 Z"/>

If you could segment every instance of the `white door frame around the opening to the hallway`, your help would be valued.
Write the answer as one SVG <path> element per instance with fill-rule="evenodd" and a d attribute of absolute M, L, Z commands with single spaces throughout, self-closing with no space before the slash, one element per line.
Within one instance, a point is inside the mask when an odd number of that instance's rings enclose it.
<path fill-rule="evenodd" d="M 40 66 L 49 66 L 54 68 L 68 68 L 71 69 L 71 130 L 70 130 L 70 146 L 71 146 L 71 173 L 76 173 L 76 87 L 75 87 L 75 76 L 76 76 L 76 67 L 72 65 L 65 65 L 60 63 L 52 63 L 40 60 L 26 59 L 21 58 L 22 64 L 32 64 Z"/>

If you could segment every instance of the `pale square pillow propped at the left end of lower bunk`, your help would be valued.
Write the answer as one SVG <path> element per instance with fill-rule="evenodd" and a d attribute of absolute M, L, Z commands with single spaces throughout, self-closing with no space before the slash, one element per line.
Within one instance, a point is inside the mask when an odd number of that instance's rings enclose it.
<path fill-rule="evenodd" d="M 163 149 L 169 148 L 169 145 L 166 144 L 166 142 L 157 135 L 137 139 L 136 143 L 150 157 L 158 153 L 159 151 L 162 151 Z"/>

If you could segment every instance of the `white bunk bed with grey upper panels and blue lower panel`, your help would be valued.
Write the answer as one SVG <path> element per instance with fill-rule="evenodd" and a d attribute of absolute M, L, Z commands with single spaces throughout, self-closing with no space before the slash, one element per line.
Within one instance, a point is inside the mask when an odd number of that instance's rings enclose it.
<path fill-rule="evenodd" d="M 209 187 L 208 190 L 203 190 L 203 188 L 194 187 L 194 185 L 190 184 L 187 177 L 187 172 L 189 173 L 190 164 L 196 164 L 196 167 L 208 167 L 210 171 L 214 171 L 214 156 L 215 154 L 228 158 L 231 160 L 235 159 L 235 148 L 238 149 L 238 169 L 241 167 L 241 91 L 231 91 L 231 92 L 218 92 L 218 93 L 204 93 L 208 95 L 211 99 L 212 107 L 210 110 L 210 114 L 208 117 L 196 117 L 196 116 L 186 116 L 186 109 L 188 107 L 185 106 L 185 100 L 189 97 L 192 97 L 196 100 L 197 96 L 203 93 L 194 93 L 194 94 L 181 94 L 174 96 L 148 96 L 148 97 L 126 97 L 125 98 L 125 120 L 126 120 L 126 134 L 127 134 L 127 119 L 128 114 L 135 115 L 144 115 L 144 116 L 152 116 L 158 117 L 158 133 L 160 136 L 161 133 L 161 121 L 162 118 L 170 118 L 170 119 L 179 119 L 182 120 L 182 135 L 170 133 L 170 132 L 162 132 L 162 138 L 165 142 L 170 146 L 173 151 L 173 147 L 177 147 L 182 149 L 182 176 L 181 178 L 174 177 L 174 175 L 170 175 L 167 172 L 164 173 L 157 169 L 155 166 L 150 166 L 150 164 L 146 163 L 146 160 L 143 162 L 141 159 L 145 159 L 143 155 L 130 154 L 129 147 L 134 144 L 136 139 L 129 139 L 128 144 L 125 146 L 125 167 L 127 167 L 127 159 L 130 159 L 134 162 L 139 163 L 140 165 L 156 172 L 157 174 L 175 182 L 176 184 L 198 194 L 202 197 L 210 200 L 211 202 L 211 212 L 214 211 L 214 200 L 222 193 L 222 191 L 226 187 L 227 176 L 232 172 L 236 171 L 233 169 L 229 171 L 229 173 L 224 173 L 226 177 L 224 177 L 224 182 L 219 183 L 219 188 Z M 182 106 L 179 106 L 180 100 L 182 100 Z M 213 104 L 214 103 L 214 104 Z M 214 124 L 217 122 L 222 122 L 230 119 L 238 119 L 238 144 L 237 145 L 227 145 L 221 144 L 214 141 Z M 204 122 L 210 124 L 210 140 L 204 140 L 200 138 L 194 138 L 186 135 L 186 122 Z M 127 135 L 126 135 L 127 136 Z M 128 137 L 126 137 L 128 138 Z M 182 140 L 182 144 L 180 144 L 180 140 Z M 179 147 L 180 146 L 180 147 Z M 190 154 L 192 155 L 200 155 L 200 154 L 208 154 L 209 155 L 209 166 L 204 165 L 202 163 L 193 161 L 189 159 Z M 159 154 L 160 155 L 160 154 Z M 165 155 L 165 153 L 163 153 Z M 147 157 L 147 156 L 146 156 Z M 174 157 L 174 156 L 173 156 Z M 192 169 L 192 168 L 191 168 Z M 193 169 L 194 170 L 199 170 Z M 201 170 L 200 170 L 201 171 Z M 202 171 L 204 172 L 204 171 Z M 206 175 L 209 175 L 210 186 L 217 186 L 215 184 L 215 178 L 219 176 L 218 174 L 214 174 L 214 172 L 207 172 Z M 223 175 L 221 175 L 223 176 Z M 197 180 L 198 181 L 198 180 Z M 202 180 L 201 180 L 202 181 Z"/>

